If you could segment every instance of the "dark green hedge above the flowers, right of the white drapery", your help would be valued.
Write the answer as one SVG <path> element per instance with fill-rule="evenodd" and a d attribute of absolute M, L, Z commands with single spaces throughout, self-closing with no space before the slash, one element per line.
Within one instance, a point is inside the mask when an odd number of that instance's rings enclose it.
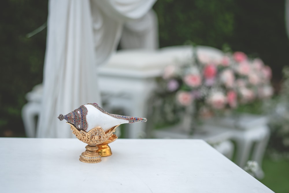
<path fill-rule="evenodd" d="M 275 82 L 288 65 L 283 1 L 158 0 L 160 46 L 191 40 L 219 49 L 230 47 L 260 57 L 273 69 Z"/>

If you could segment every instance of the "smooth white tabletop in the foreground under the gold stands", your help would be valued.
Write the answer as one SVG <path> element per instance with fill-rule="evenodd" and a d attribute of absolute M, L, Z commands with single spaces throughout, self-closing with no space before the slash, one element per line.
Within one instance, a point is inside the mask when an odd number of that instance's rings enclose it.
<path fill-rule="evenodd" d="M 0 138 L 1 192 L 272 192 L 200 139 L 117 139 L 94 164 L 85 145 Z"/>

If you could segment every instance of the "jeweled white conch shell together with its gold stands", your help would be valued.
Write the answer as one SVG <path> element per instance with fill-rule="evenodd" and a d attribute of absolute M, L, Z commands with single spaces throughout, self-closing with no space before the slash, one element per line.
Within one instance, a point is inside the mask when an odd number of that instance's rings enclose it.
<path fill-rule="evenodd" d="M 60 114 L 58 119 L 65 119 L 77 139 L 88 144 L 79 158 L 85 163 L 98 163 L 101 157 L 112 155 L 108 144 L 117 139 L 113 132 L 120 124 L 147 122 L 146 118 L 108 113 L 96 103 L 81 105 L 67 115 Z"/>

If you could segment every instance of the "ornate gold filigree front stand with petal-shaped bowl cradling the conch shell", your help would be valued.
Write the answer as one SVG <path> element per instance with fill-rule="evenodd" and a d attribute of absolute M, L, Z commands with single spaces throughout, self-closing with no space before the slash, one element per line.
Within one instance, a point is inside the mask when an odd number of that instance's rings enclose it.
<path fill-rule="evenodd" d="M 101 156 L 98 153 L 97 145 L 106 143 L 106 141 L 111 143 L 112 141 L 110 142 L 110 140 L 112 139 L 110 138 L 112 137 L 115 128 L 119 126 L 116 125 L 110 128 L 107 132 L 105 132 L 101 127 L 97 127 L 86 133 L 83 130 L 78 130 L 74 125 L 70 123 L 68 124 L 70 125 L 70 129 L 72 130 L 72 133 L 77 137 L 77 139 L 87 144 L 87 146 L 85 147 L 86 148 L 85 152 L 82 152 L 81 155 L 79 156 L 80 157 L 79 160 L 85 163 L 101 162 Z M 113 141 L 115 141 L 116 138 Z"/>

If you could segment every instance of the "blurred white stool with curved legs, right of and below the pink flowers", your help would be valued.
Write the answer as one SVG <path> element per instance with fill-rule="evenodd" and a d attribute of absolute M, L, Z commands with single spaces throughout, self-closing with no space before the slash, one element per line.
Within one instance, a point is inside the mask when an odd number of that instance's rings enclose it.
<path fill-rule="evenodd" d="M 237 165 L 244 168 L 247 161 L 256 161 L 259 169 L 255 175 L 262 179 L 264 177 L 262 160 L 270 137 L 267 122 L 266 116 L 241 114 L 237 120 L 226 117 L 214 119 L 208 124 L 221 126 L 231 132 L 231 139 L 236 141 Z"/>

